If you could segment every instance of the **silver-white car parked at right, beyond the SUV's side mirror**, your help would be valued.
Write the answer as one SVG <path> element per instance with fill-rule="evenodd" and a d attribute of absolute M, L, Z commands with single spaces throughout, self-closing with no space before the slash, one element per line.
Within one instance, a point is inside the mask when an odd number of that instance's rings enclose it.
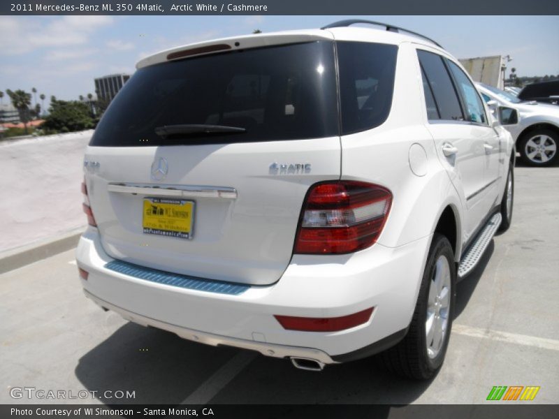
<path fill-rule="evenodd" d="M 530 166 L 549 166 L 557 161 L 559 107 L 522 101 L 506 91 L 477 83 L 487 103 L 499 108 L 501 123 L 512 135 L 516 149 Z"/>

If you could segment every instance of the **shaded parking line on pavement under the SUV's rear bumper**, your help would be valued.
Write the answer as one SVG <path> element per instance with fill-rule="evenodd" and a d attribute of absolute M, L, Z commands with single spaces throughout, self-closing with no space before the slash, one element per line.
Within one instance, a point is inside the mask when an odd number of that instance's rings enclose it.
<path fill-rule="evenodd" d="M 242 369 L 256 358 L 256 353 L 240 351 L 228 360 L 210 378 L 204 381 L 200 387 L 182 401 L 181 404 L 206 404 L 210 402 L 217 393 L 222 390 Z"/>

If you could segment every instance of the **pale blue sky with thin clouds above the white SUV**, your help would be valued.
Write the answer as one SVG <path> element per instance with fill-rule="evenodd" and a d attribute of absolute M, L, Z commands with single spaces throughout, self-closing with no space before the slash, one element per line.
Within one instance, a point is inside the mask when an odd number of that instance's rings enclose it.
<path fill-rule="evenodd" d="M 348 16 L 0 16 L 0 90 L 94 94 L 94 78 L 223 36 L 321 27 Z M 559 16 L 358 16 L 425 34 L 458 58 L 507 55 L 522 75 L 559 74 Z M 507 72 L 508 75 L 508 72 Z M 6 103 L 6 98 L 3 99 Z"/>

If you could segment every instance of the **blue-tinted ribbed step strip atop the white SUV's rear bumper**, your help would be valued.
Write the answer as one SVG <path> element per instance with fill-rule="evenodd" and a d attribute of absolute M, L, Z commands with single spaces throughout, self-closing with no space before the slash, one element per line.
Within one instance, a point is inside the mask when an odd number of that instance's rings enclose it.
<path fill-rule="evenodd" d="M 240 295 L 247 291 L 250 286 L 233 284 L 225 281 L 215 281 L 213 279 L 203 279 L 189 277 L 188 275 L 173 274 L 150 267 L 133 265 L 122 260 L 111 260 L 105 265 L 106 269 L 118 272 L 119 274 L 129 275 L 130 277 L 144 279 L 145 281 L 156 284 L 176 286 L 196 291 L 206 291 L 208 293 L 219 293 L 227 295 Z"/>

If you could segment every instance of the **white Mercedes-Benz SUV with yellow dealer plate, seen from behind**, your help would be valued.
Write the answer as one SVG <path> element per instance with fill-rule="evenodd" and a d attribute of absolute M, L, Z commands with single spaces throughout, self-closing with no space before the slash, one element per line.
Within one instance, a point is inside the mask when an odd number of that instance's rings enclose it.
<path fill-rule="evenodd" d="M 137 64 L 85 152 L 87 297 L 303 369 L 435 374 L 456 281 L 511 222 L 514 143 L 440 45 L 354 23 Z"/>

